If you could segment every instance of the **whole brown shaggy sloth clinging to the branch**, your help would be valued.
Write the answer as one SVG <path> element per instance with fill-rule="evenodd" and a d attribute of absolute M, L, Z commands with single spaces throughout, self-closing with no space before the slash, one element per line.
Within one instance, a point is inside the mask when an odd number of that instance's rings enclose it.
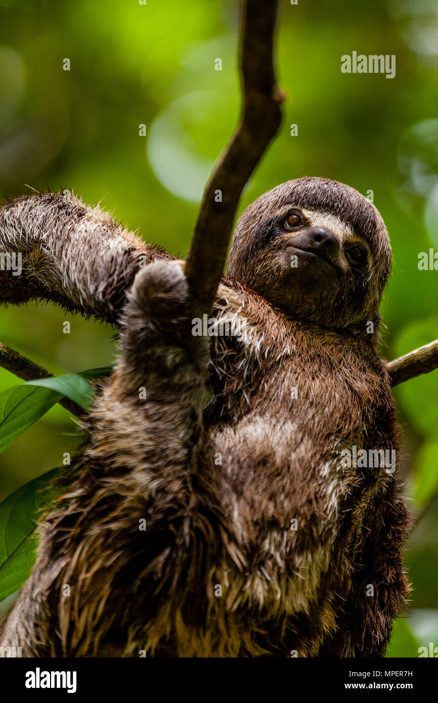
<path fill-rule="evenodd" d="M 409 592 L 408 514 L 392 466 L 342 460 L 399 448 L 376 351 L 391 248 L 373 203 L 310 177 L 262 195 L 236 226 L 207 336 L 184 262 L 75 196 L 10 202 L 0 233 L 23 257 L 22 276 L 1 272 L 2 302 L 50 299 L 120 328 L 0 644 L 383 656 Z"/>

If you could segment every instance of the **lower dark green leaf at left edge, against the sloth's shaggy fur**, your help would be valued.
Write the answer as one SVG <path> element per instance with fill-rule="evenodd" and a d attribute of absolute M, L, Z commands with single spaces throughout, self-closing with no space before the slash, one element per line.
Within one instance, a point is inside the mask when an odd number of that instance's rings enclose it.
<path fill-rule="evenodd" d="M 39 509 L 53 498 L 53 493 L 47 491 L 47 484 L 59 472 L 60 469 L 46 472 L 0 503 L 0 601 L 18 591 L 32 572 Z M 44 488 L 46 491 L 42 494 Z"/>

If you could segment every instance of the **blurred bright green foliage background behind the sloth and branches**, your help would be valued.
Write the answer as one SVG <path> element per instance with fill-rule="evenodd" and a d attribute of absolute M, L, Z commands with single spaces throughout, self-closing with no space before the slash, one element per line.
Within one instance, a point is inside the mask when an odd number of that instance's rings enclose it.
<path fill-rule="evenodd" d="M 186 254 L 202 187 L 238 115 L 237 1 L 0 0 L 0 11 L 1 196 L 25 184 L 72 188 L 148 242 Z M 395 54 L 396 77 L 342 74 L 352 51 Z M 283 124 L 240 209 L 300 175 L 373 191 L 394 252 L 382 355 L 434 340 L 438 271 L 419 271 L 418 254 L 438 250 L 437 4 L 283 0 L 277 63 Z M 0 341 L 53 373 L 105 366 L 115 354 L 110 328 L 43 304 L 1 309 Z M 0 369 L 0 389 L 15 380 Z M 438 645 L 438 371 L 395 396 L 400 473 L 421 517 L 406 549 L 411 609 L 389 655 L 417 657 L 420 645 Z M 0 498 L 75 446 L 76 425 L 56 406 L 0 456 Z"/>

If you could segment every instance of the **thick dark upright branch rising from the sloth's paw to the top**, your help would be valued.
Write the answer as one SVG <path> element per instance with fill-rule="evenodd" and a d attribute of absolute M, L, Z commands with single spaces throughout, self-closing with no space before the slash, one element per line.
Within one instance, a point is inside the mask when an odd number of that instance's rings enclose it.
<path fill-rule="evenodd" d="M 273 70 L 277 0 L 243 0 L 241 9 L 242 117 L 205 186 L 186 262 L 195 302 L 203 311 L 212 309 L 240 195 L 280 126 L 285 98 Z"/>

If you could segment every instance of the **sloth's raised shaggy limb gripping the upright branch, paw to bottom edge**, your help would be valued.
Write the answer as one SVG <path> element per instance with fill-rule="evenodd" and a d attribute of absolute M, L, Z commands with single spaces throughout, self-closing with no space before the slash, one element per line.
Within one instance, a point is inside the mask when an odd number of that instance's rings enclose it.
<path fill-rule="evenodd" d="M 183 608 L 199 617 L 193 594 L 217 534 L 199 470 L 209 349 L 191 335 L 181 264 L 137 274 L 120 349 L 75 480 L 39 524 L 37 563 L 0 635 L 25 656 L 153 653 L 181 628 Z"/>

